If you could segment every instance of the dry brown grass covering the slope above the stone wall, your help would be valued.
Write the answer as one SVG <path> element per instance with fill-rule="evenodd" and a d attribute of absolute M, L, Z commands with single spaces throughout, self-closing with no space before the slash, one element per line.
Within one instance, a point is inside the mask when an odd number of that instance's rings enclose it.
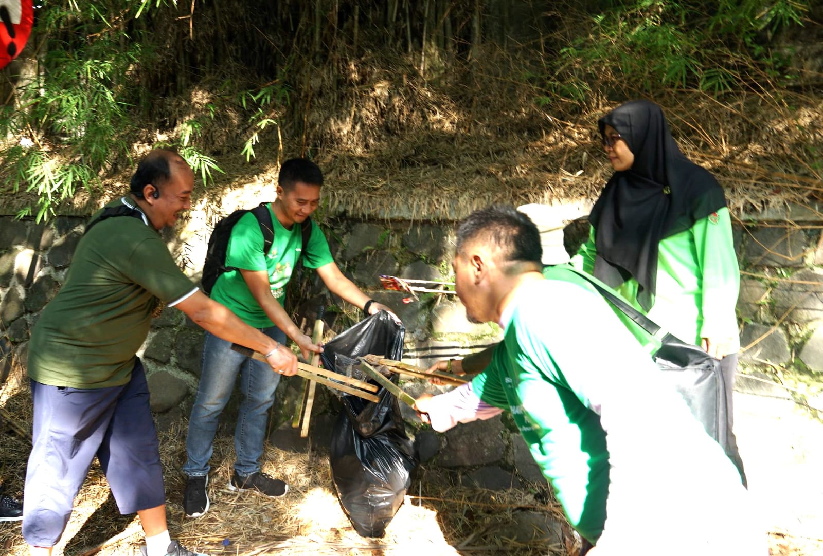
<path fill-rule="evenodd" d="M 258 185 L 273 197 L 270 186 L 280 162 L 309 155 L 327 176 L 323 196 L 332 215 L 456 220 L 492 202 L 597 197 L 611 174 L 597 118 L 620 104 L 598 90 L 611 90 L 614 83 L 592 83 L 592 100 L 585 105 L 560 98 L 538 104 L 545 90 L 518 77 L 537 63 L 526 56 L 495 50 L 477 67 L 426 75 L 414 59 L 399 54 L 313 67 L 306 89 L 292 103 L 300 114 L 279 114 L 280 124 L 261 133 L 258 158 L 251 163 L 239 155 L 244 140 L 239 115 L 226 108 L 209 120 L 202 146 L 207 151 L 220 146 L 216 160 L 226 174 L 214 174 L 214 185 L 198 188 L 197 194 L 220 206 L 227 192 Z M 164 100 L 176 115 L 172 119 L 184 121 L 203 105 L 218 103 L 207 86 Z M 622 100 L 646 96 L 643 91 L 623 95 Z M 718 99 L 679 90 L 651 100 L 663 106 L 686 155 L 718 177 L 733 212 L 823 198 L 818 95 L 764 89 Z M 147 130 L 153 125 L 146 123 L 142 135 L 151 136 Z M 174 130 L 166 135 L 174 137 Z M 135 143 L 133 155 L 139 158 L 149 146 Z M 109 176 L 102 191 L 81 195 L 63 213 L 88 211 L 123 192 L 129 171 Z M 14 211 L 30 200 L 7 195 L 0 209 Z"/>

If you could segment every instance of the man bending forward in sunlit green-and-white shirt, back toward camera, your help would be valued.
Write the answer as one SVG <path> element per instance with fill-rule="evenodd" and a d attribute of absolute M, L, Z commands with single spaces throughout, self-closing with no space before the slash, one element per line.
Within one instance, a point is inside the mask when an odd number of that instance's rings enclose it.
<path fill-rule="evenodd" d="M 542 276 L 528 217 L 511 206 L 469 215 L 453 268 L 467 317 L 504 336 L 472 382 L 417 399 L 433 429 L 510 410 L 596 556 L 766 554 L 723 449 L 605 299 Z"/>

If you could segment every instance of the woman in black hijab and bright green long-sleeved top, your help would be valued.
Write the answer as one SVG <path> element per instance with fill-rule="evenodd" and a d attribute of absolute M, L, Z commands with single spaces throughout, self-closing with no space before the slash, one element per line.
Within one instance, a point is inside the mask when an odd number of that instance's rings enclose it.
<path fill-rule="evenodd" d="M 740 270 L 723 189 L 681 153 L 657 104 L 622 104 L 597 126 L 615 173 L 589 215 L 584 271 L 721 359 L 733 443 Z"/>

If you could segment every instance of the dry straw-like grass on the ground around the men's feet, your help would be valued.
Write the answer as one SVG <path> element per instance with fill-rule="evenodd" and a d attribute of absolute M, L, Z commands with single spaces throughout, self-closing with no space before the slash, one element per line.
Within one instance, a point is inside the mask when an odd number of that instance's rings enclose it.
<path fill-rule="evenodd" d="M 0 394 L 5 423 L 30 430 L 28 389 L 7 387 Z M 263 470 L 290 485 L 281 499 L 253 493 L 231 492 L 224 487 L 234 461 L 233 439 L 220 436 L 215 442 L 210 478 L 212 507 L 197 520 L 186 519 L 180 501 L 184 479 L 185 423 L 160 433 L 165 469 L 169 529 L 173 538 L 190 549 L 207 554 L 576 554 L 568 526 L 566 546 L 550 546 L 545 540 L 518 543 L 505 538 L 513 513 L 545 512 L 564 521 L 556 503 L 540 503 L 527 490 L 490 491 L 452 486 L 442 471 L 421 468 L 402 507 L 382 539 L 357 535 L 334 494 L 323 450 L 288 452 L 267 446 Z M 30 443 L 13 429 L 2 430 L 0 469 L 11 493 L 19 494 L 25 476 Z M 541 489 L 538 487 L 537 489 Z M 545 498 L 546 492 L 537 492 Z M 114 538 L 114 542 L 111 539 Z M 224 546 L 224 540 L 229 544 Z M 55 554 L 139 554 L 142 530 L 134 516 L 120 516 L 99 467 L 92 466 L 74 512 Z M 27 554 L 19 523 L 0 526 L 0 547 L 8 556 Z"/>

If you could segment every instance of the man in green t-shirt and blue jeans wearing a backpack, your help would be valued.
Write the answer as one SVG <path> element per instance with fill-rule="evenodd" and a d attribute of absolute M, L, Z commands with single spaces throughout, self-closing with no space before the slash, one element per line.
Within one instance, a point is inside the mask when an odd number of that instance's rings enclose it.
<path fill-rule="evenodd" d="M 328 243 L 317 224 L 311 222 L 309 242 L 303 251 L 301 225 L 320 202 L 323 173 L 311 160 L 286 160 L 277 178 L 277 200 L 268 205 L 272 215 L 274 239 L 263 252 L 263 233 L 257 218 L 249 213 L 231 229 L 226 248 L 226 266 L 235 270 L 217 277 L 212 299 L 230 308 L 244 322 L 281 342 L 286 337 L 298 345 L 303 357 L 323 349 L 306 336 L 283 309 L 286 285 L 298 259 L 314 268 L 332 294 L 362 308 L 366 315 L 390 311 L 364 294 L 332 260 Z M 230 342 L 207 334 L 203 345 L 202 373 L 197 399 L 188 419 L 183 467 L 187 475 L 183 506 L 187 517 L 200 517 L 208 511 L 207 484 L 212 442 L 217 421 L 240 375 L 240 402 L 235 426 L 235 472 L 230 490 L 253 490 L 268 497 L 282 496 L 288 485 L 263 473 L 263 455 L 268 409 L 274 402 L 279 376 L 265 366 L 231 350 Z"/>

